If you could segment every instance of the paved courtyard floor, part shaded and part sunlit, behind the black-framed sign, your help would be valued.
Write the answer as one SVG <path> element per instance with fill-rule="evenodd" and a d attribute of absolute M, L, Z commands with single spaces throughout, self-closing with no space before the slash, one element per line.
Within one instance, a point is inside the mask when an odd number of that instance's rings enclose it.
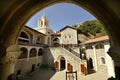
<path fill-rule="evenodd" d="M 78 73 L 78 80 L 107 80 L 107 75 L 102 72 L 93 73 L 87 76 Z M 49 69 L 39 69 L 32 72 L 29 76 L 22 77 L 20 80 L 65 80 L 65 71 L 55 72 Z M 75 80 L 75 79 L 73 79 Z"/>

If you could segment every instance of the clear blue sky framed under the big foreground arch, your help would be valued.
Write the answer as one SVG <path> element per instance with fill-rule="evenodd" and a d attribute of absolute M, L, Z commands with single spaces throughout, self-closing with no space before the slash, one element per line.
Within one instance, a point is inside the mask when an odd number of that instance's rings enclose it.
<path fill-rule="evenodd" d="M 26 25 L 31 28 L 37 27 L 37 20 L 43 15 L 49 20 L 49 28 L 53 31 L 59 31 L 67 25 L 71 26 L 86 20 L 96 19 L 92 14 L 75 4 L 59 3 L 37 12 Z"/>

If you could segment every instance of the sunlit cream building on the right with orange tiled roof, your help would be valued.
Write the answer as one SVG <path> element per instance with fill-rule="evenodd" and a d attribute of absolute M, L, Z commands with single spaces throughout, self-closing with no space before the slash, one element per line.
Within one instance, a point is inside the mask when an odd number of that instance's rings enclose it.
<path fill-rule="evenodd" d="M 88 62 L 88 73 L 104 72 L 108 73 L 109 77 L 115 77 L 114 62 L 107 54 L 110 47 L 108 36 L 103 36 L 95 39 L 88 40 L 81 44 L 81 52 L 85 54 Z"/>

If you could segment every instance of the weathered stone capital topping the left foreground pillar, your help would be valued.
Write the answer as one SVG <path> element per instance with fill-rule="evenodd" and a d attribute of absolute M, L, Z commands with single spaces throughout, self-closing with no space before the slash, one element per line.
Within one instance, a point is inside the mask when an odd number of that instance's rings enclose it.
<path fill-rule="evenodd" d="M 11 45 L 6 49 L 7 54 L 0 60 L 0 64 L 15 63 L 21 51 L 18 45 Z"/>

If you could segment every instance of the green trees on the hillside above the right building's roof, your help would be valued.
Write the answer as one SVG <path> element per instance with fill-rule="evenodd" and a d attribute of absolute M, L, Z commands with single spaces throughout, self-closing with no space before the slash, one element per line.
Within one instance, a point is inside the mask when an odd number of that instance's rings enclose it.
<path fill-rule="evenodd" d="M 98 20 L 85 21 L 80 25 L 73 25 L 79 34 L 94 35 L 100 33 L 101 36 L 106 35 L 103 25 Z"/>

